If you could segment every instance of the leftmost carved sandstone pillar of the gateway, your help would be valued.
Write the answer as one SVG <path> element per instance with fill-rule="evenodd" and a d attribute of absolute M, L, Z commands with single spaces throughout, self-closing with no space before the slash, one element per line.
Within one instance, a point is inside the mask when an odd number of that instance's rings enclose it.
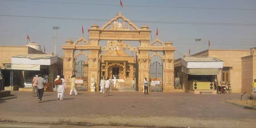
<path fill-rule="evenodd" d="M 70 90 L 70 78 L 74 73 L 74 50 L 75 46 L 73 46 L 73 41 L 68 39 L 66 41 L 66 45 L 62 45 L 62 49 L 64 50 L 63 57 L 63 75 L 67 84 L 67 91 Z"/>

